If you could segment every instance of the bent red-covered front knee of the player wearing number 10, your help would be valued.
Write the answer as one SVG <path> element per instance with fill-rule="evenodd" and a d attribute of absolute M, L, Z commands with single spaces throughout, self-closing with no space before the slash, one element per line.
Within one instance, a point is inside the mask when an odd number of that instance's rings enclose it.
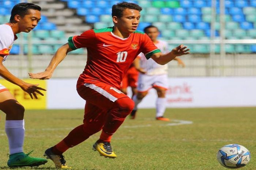
<path fill-rule="evenodd" d="M 118 112 L 121 113 L 123 116 L 127 116 L 132 112 L 132 109 L 134 107 L 134 102 L 131 98 L 129 97 L 124 97 L 121 99 L 118 99 L 115 102 L 114 107 L 118 109 Z"/>

